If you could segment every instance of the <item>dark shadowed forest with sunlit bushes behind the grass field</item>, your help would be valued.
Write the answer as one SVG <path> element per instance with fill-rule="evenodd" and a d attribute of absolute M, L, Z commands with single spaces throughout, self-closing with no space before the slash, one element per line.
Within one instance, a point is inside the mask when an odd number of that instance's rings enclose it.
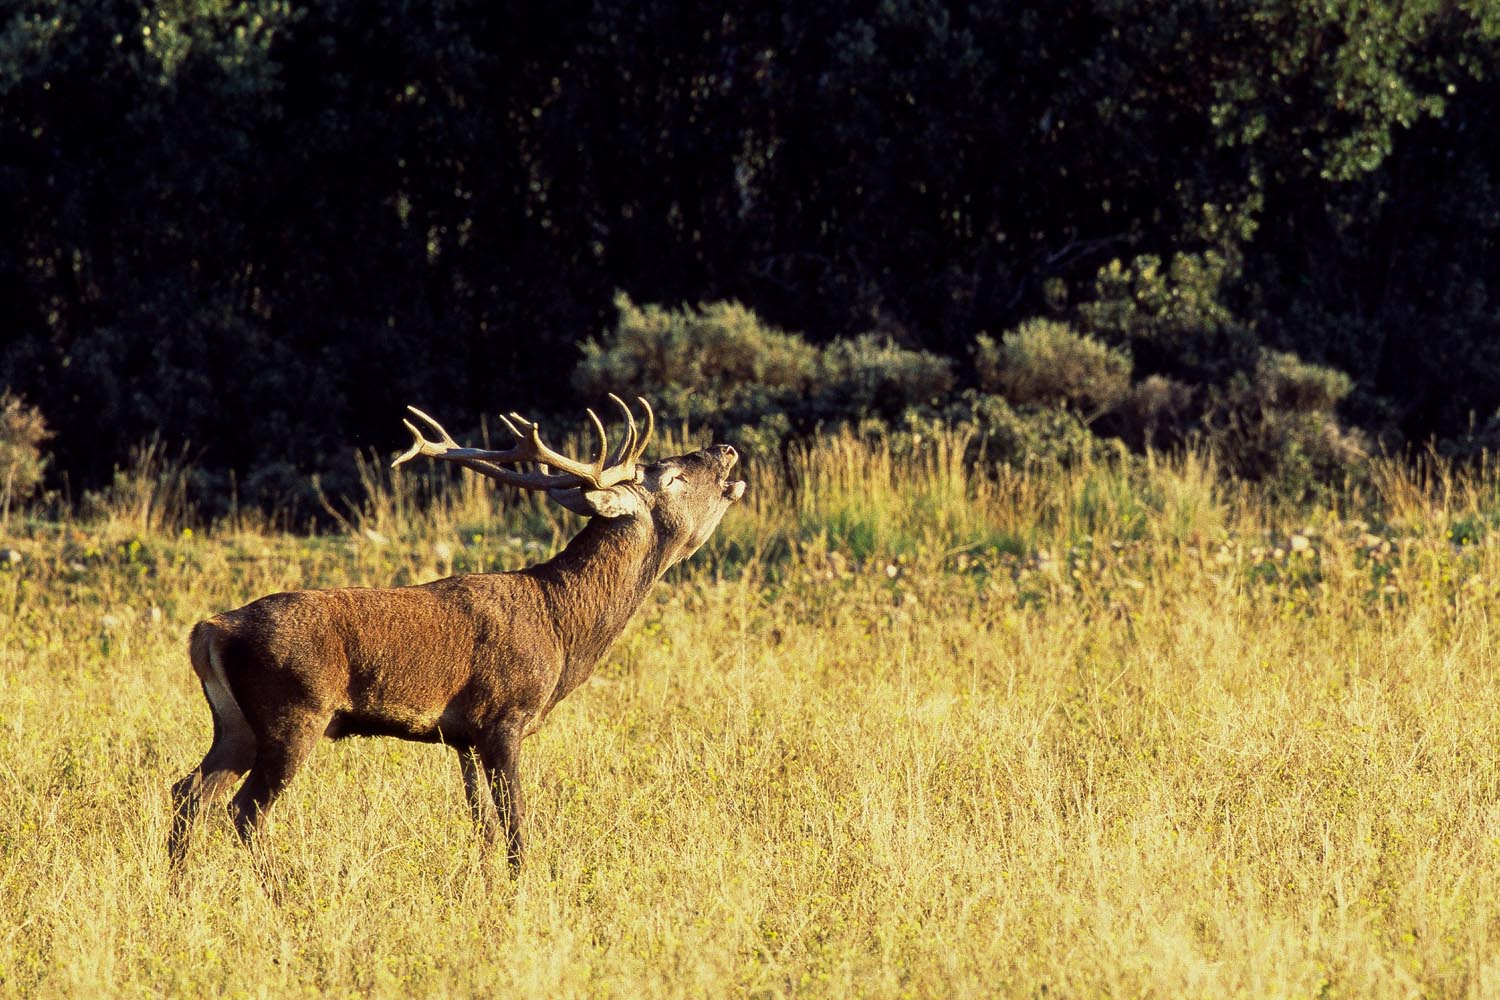
<path fill-rule="evenodd" d="M 0 385 L 72 490 L 159 435 L 273 504 L 610 387 L 1472 454 L 1497 108 L 1491 0 L 4 0 Z"/>

